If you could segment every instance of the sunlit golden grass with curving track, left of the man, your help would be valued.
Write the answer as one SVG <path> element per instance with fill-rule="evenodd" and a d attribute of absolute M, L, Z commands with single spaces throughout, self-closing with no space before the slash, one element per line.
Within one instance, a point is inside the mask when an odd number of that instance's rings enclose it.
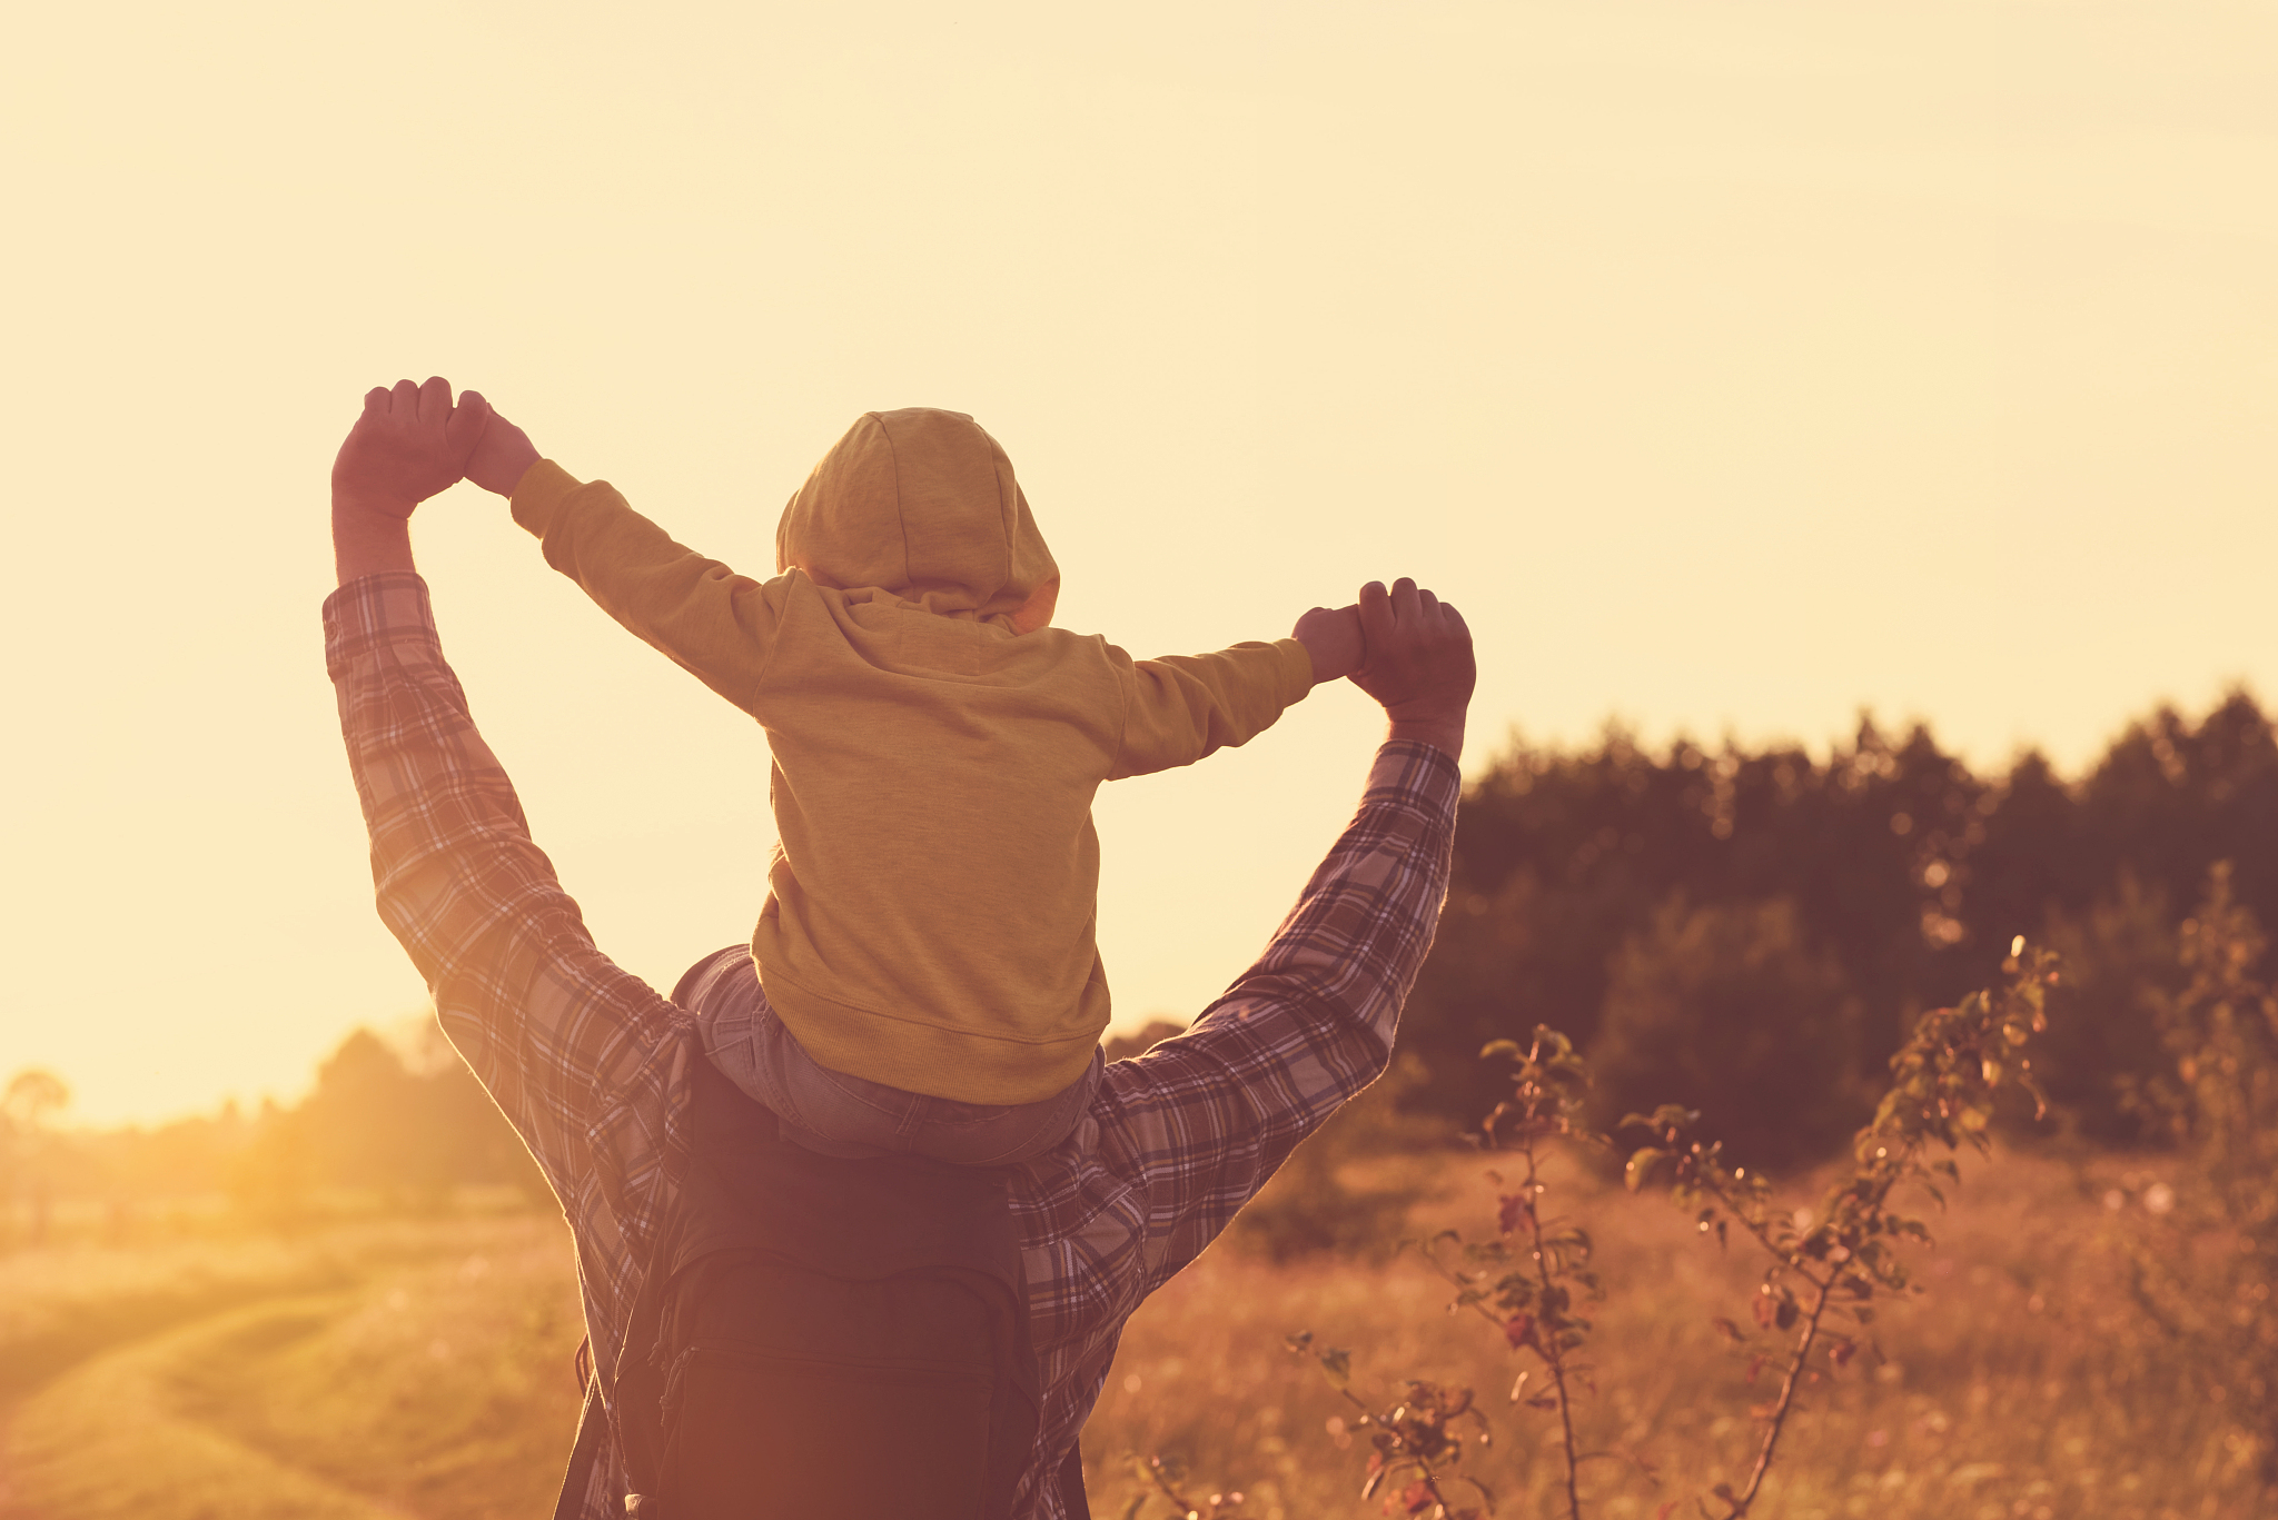
<path fill-rule="evenodd" d="M 237 1253 L 200 1242 L 159 1262 L 200 1265 L 226 1285 L 221 1301 L 251 1304 L 96 1354 L 11 1413 L 0 1515 L 544 1513 L 576 1422 L 579 1310 L 560 1219 L 355 1226 L 301 1244 L 248 1240 Z M 93 1335 L 64 1262 L 11 1267 L 64 1301 L 25 1310 L 27 1322 Z M 139 1324 L 144 1276 L 121 1267 L 116 1281 Z M 305 1292 L 310 1281 L 330 1290 Z"/>

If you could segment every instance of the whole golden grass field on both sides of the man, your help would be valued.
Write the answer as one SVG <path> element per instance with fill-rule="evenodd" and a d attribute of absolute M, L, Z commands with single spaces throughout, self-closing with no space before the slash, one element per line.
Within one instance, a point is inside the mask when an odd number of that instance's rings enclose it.
<path fill-rule="evenodd" d="M 1476 1158 L 1399 1162 L 1421 1226 L 1481 1226 Z M 1599 1240 L 1597 1390 L 1576 1404 L 1592 1511 L 1652 1518 L 1754 1449 L 1736 1315 L 1756 1262 L 1663 1201 L 1560 1178 Z M 2144 1335 L 2100 1249 L 2112 1224 L 2062 1164 L 1973 1169 L 1927 1253 L 1920 1304 L 1811 1390 L 1759 1515 L 2248 1518 L 2251 1443 Z M 1551 1513 L 1551 1415 L 1513 1406 L 1517 1360 L 1444 1313 L 1412 1258 L 1273 1265 L 1214 1249 L 1132 1322 L 1084 1431 L 1093 1513 L 1144 1490 L 1132 1458 L 1239 1488 L 1246 1515 L 1374 1515 L 1351 1413 L 1289 1331 L 1353 1349 L 1355 1390 L 1433 1376 L 1481 1390 L 1497 1445 L 1465 1465 L 1499 1513 Z M 296 1242 L 178 1242 L 0 1260 L 0 1515 L 191 1520 L 535 1515 L 574 1424 L 567 1237 L 540 1215 L 367 1221 Z M 1144 1509 L 1169 1513 L 1166 1504 Z"/>

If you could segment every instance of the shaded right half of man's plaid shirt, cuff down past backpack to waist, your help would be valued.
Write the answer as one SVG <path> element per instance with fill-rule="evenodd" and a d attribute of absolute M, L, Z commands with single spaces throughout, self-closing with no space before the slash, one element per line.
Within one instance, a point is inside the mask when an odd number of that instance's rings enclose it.
<path fill-rule="evenodd" d="M 1447 898 L 1460 788 L 1447 752 L 1383 745 L 1360 811 L 1257 964 L 1185 1035 L 1109 1064 L 1089 1135 L 1016 1171 L 1046 1397 L 1014 1513 L 1068 1513 L 1046 1479 L 1091 1415 L 1123 1322 L 1383 1076 Z"/>

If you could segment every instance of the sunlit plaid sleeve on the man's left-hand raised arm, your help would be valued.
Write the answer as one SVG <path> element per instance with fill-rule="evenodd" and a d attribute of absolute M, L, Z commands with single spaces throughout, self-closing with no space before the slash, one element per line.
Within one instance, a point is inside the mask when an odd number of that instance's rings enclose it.
<path fill-rule="evenodd" d="M 597 1365 L 611 1370 L 686 1153 L 695 1028 L 595 948 L 531 843 L 444 665 L 426 581 L 351 581 L 323 604 L 323 631 L 380 918 L 563 1199 Z"/>

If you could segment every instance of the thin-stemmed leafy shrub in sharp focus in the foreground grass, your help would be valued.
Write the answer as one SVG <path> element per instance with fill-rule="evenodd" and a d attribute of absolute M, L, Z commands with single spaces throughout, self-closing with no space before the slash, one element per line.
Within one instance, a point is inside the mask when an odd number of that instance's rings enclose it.
<path fill-rule="evenodd" d="M 1672 916 L 1670 923 L 1683 930 L 1693 918 Z M 1777 909 L 1759 914 L 1759 923 L 1738 937 L 1740 946 L 1793 943 L 1793 923 L 1784 925 L 1786 937 L 1777 932 L 1784 918 Z M 1677 934 L 1677 943 L 1713 948 L 1715 934 Z M 1752 962 L 1740 957 L 1740 964 Z M 1622 1119 L 1620 1128 L 1638 1128 L 1649 1142 L 1631 1153 L 1624 1169 L 1633 1190 L 1663 1178 L 1674 1201 L 1695 1212 L 1702 1235 L 1713 1235 L 1720 1247 L 1738 1237 L 1770 1258 L 1750 1297 L 1754 1329 L 1743 1329 L 1738 1319 L 1718 1319 L 1718 1326 L 1740 1354 L 1752 1356 L 1747 1381 L 1763 1367 L 1777 1367 L 1779 1388 L 1750 1408 L 1756 1456 L 1747 1474 L 1738 1484 L 1718 1481 L 1695 1499 L 1708 1520 L 1743 1520 L 1752 1511 L 1802 1390 L 1841 1374 L 1861 1347 L 1873 1347 L 1868 1326 L 1886 1299 L 1918 1292 L 1902 1247 L 1927 1247 L 1932 1237 L 1923 1219 L 1900 1212 L 1900 1190 L 1943 1206 L 1941 1180 L 1959 1183 L 1959 1171 L 1934 1151 L 1964 1144 L 1989 1151 L 1996 1103 L 2005 1092 L 2021 1089 L 2041 1108 L 2025 1046 L 2046 1028 L 2055 957 L 2027 953 L 2016 939 L 2002 973 L 2002 984 L 1916 1023 L 1891 1057 L 1888 1089 L 1852 1139 L 1850 1171 L 1818 1210 L 1781 1206 L 1759 1169 L 1729 1162 L 1722 1142 L 1702 1130 L 1697 1110 L 1663 1103 L 1652 1117 Z M 2278 1019 L 2271 1028 L 2278 1032 Z M 1440 1231 L 1421 1249 L 1426 1262 L 1456 1288 L 1449 1313 L 1485 1319 L 1515 1356 L 1531 1363 L 1513 1386 L 1510 1404 L 1556 1415 L 1558 1427 L 1542 1445 L 1563 1458 L 1558 1497 L 1565 1520 L 1583 1520 L 1581 1463 L 1615 1456 L 1583 1449 L 1574 1415 L 1576 1401 L 1597 1392 L 1588 1360 L 1597 1310 L 1588 1306 L 1604 1299 L 1606 1288 L 1590 1231 L 1554 1212 L 1540 1160 L 1551 1144 L 1599 1149 L 1606 1139 L 1579 1123 L 1590 1069 L 1565 1035 L 1535 1025 L 1526 1044 L 1499 1039 L 1481 1055 L 1513 1062 L 1510 1098 L 1488 1114 L 1481 1142 L 1513 1155 L 1519 1174 L 1508 1180 L 1490 1174 L 1499 1187 L 1510 1185 L 1499 1196 L 1492 1235 L 1465 1240 L 1458 1231 Z M 1362 1499 L 1385 1493 L 1385 1513 L 1428 1513 L 1433 1520 L 1485 1520 L 1494 1513 L 1494 1488 L 1465 1470 L 1465 1452 L 1483 1454 L 1494 1440 L 1469 1388 L 1408 1379 L 1390 1397 L 1369 1399 L 1353 1388 L 1349 1349 L 1319 1347 L 1310 1333 L 1292 1335 L 1289 1349 L 1317 1358 L 1355 1411 L 1353 1420 L 1337 1420 L 1333 1429 L 1369 1440 Z M 1531 1383 L 1535 1374 L 1540 1381 Z M 1162 1493 L 1171 1495 L 1169 1488 Z M 1718 1509 L 1708 1509 L 1711 1499 Z M 1663 1502 L 1656 1520 L 1667 1520 L 1679 1506 L 1681 1499 Z M 1132 1515 L 1141 1509 L 1144 1499 Z"/>

